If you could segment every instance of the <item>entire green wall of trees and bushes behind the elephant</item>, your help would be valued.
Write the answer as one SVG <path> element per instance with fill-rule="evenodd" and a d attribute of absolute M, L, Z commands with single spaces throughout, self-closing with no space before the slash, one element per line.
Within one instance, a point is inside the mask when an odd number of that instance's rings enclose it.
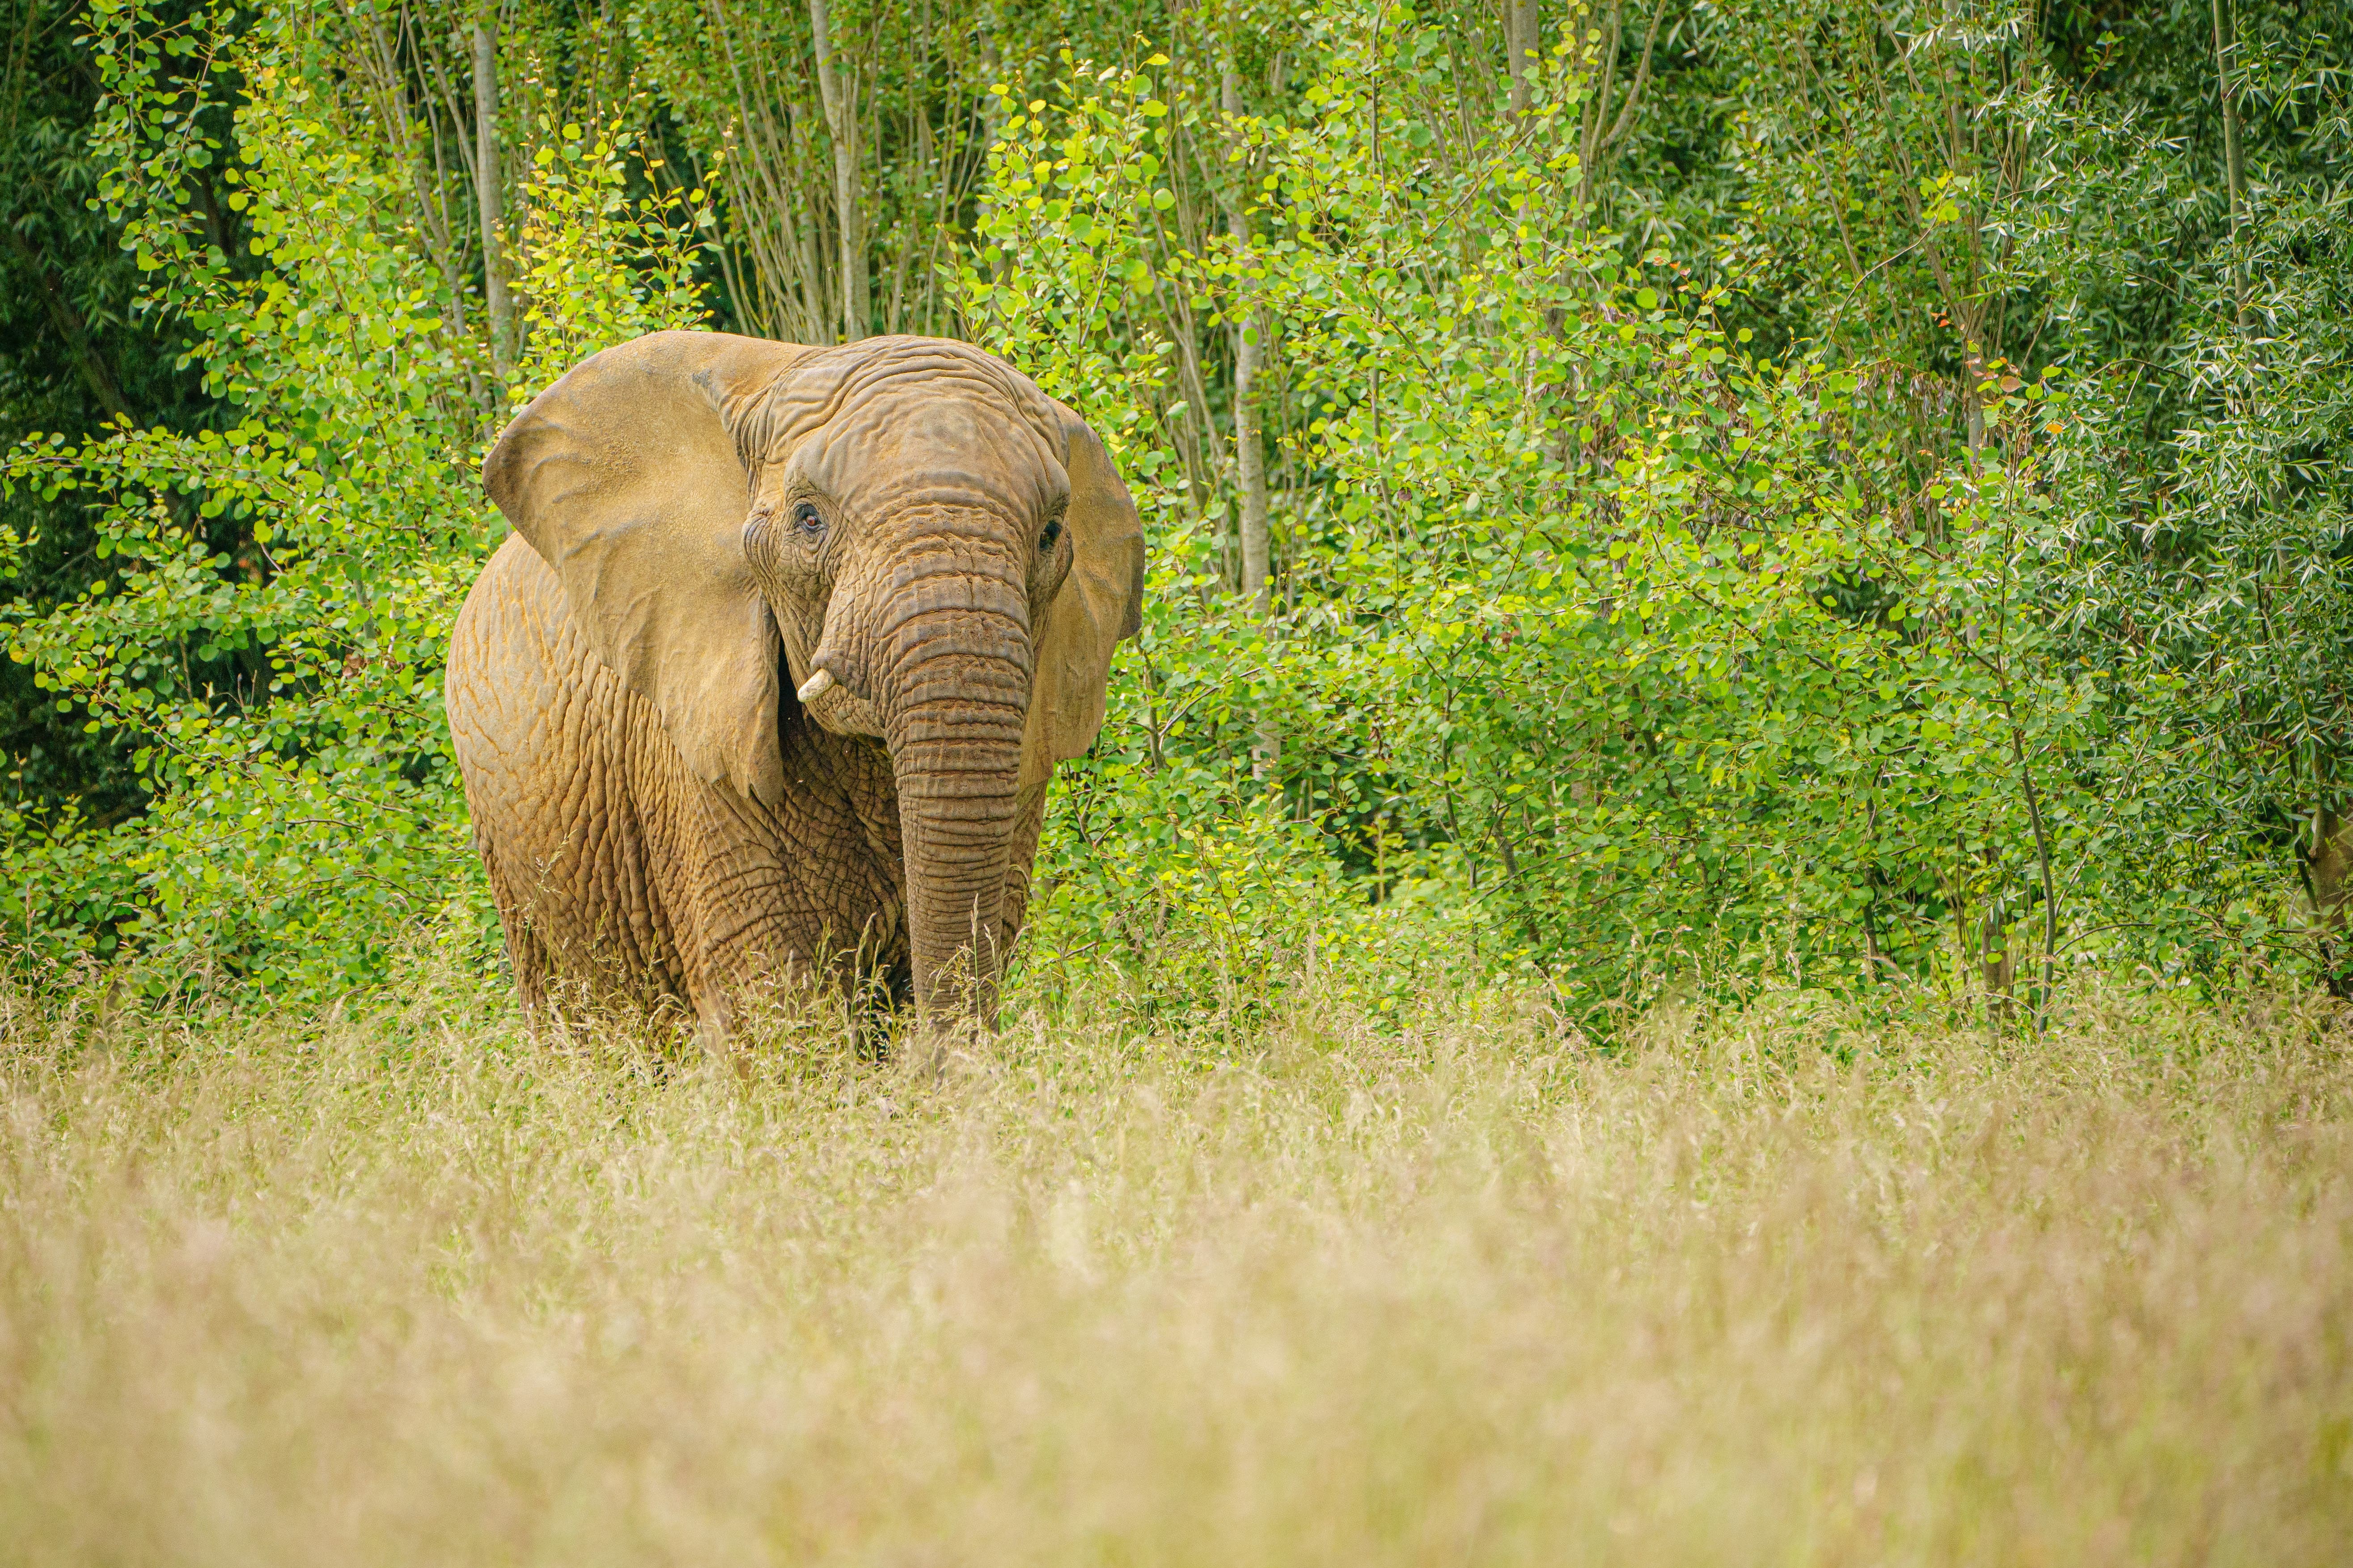
<path fill-rule="evenodd" d="M 475 470 L 654 327 L 984 343 L 1146 520 L 1021 985 L 2348 994 L 2332 5 L 12 0 L 0 940 L 496 969 Z"/>

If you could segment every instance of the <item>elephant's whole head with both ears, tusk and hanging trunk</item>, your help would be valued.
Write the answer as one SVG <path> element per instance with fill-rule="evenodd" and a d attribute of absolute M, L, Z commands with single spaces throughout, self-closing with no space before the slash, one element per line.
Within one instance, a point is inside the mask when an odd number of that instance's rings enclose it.
<path fill-rule="evenodd" d="M 889 748 L 918 1011 L 991 1018 L 1016 802 L 1094 743 L 1139 625 L 1094 430 L 965 343 L 656 331 L 544 390 L 482 482 L 713 788 L 776 804 L 802 698 Z"/>

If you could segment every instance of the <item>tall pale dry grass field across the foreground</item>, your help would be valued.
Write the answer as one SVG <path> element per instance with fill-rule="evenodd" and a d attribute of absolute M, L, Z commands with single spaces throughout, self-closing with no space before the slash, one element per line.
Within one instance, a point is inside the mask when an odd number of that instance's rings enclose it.
<path fill-rule="evenodd" d="M 2348 1044 L 1464 994 L 934 1081 L 19 999 L 0 1559 L 2346 1561 Z"/>

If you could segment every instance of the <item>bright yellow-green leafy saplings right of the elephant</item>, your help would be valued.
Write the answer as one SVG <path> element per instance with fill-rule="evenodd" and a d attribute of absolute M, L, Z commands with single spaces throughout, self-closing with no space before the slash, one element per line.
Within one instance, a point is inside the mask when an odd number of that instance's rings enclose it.
<path fill-rule="evenodd" d="M 1186 851 L 1134 837 L 1247 797 L 1377 898 L 1412 844 L 1489 961 L 1600 1011 L 1699 964 L 1955 983 L 2045 886 L 2101 879 L 2099 691 L 2028 609 L 2061 564 L 2040 444 L 2064 400 L 1991 364 L 1991 444 L 1913 484 L 1868 418 L 1892 369 L 1758 360 L 1718 324 L 1725 284 L 1581 221 L 1565 63 L 1433 172 L 1426 61 L 1369 12 L 1320 42 L 1308 115 L 1235 127 L 1247 249 L 1153 233 L 1169 129 L 1139 78 L 1080 75 L 991 155 L 974 336 L 1092 388 L 1155 520 L 1146 632 L 1061 795 L 1052 940 L 1148 966 L 1122 889 Z M 1139 411 L 1172 357 L 1120 320 L 1148 287 L 1273 324 L 1311 414 L 1278 625 L 1217 590 L 1188 411 L 1158 440 Z"/>

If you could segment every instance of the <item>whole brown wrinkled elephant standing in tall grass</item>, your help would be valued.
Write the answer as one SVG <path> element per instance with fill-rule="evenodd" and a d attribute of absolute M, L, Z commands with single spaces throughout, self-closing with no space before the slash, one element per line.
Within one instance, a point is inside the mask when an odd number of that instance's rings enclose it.
<path fill-rule="evenodd" d="M 656 331 L 482 461 L 445 703 L 529 1018 L 880 987 L 988 1030 L 1144 531 L 1101 437 L 920 336 Z"/>

